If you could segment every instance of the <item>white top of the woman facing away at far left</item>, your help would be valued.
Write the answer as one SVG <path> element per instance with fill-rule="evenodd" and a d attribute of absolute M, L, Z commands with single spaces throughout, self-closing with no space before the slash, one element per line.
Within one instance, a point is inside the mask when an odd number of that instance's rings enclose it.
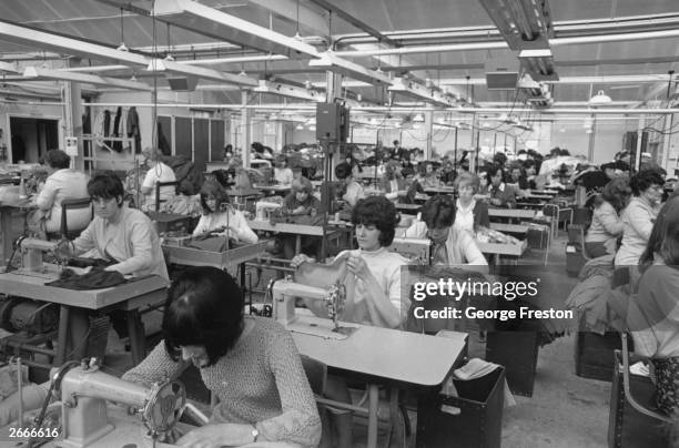
<path fill-rule="evenodd" d="M 61 230 L 61 202 L 63 200 L 87 198 L 89 177 L 78 170 L 62 169 L 50 175 L 36 198 L 38 208 L 45 211 L 45 231 L 48 233 Z M 92 210 L 73 208 L 67 212 L 69 230 L 84 228 L 92 220 Z"/>

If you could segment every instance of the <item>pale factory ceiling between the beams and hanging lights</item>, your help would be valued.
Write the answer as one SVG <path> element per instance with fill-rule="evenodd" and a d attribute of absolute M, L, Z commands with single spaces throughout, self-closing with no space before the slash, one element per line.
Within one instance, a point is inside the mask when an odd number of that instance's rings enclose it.
<path fill-rule="evenodd" d="M 164 1 L 164 0 L 156 0 Z M 152 1 L 122 1 L 122 0 L 3 0 L 0 2 L 0 18 L 4 21 L 24 24 L 40 30 L 61 33 L 82 40 L 89 40 L 115 48 L 121 42 L 121 10 L 114 4 L 131 3 L 142 10 L 150 10 Z M 209 7 L 216 8 L 223 12 L 236 16 L 261 27 L 271 28 L 276 32 L 292 37 L 297 29 L 310 42 L 317 43 L 317 49 L 326 49 L 326 35 L 331 34 L 340 40 L 338 51 L 352 51 L 357 47 L 346 47 L 351 42 L 346 34 L 367 35 L 361 29 L 342 20 L 336 14 L 330 16 L 310 0 L 300 0 L 300 17 L 306 19 L 297 23 L 297 0 L 202 0 Z M 272 13 L 266 6 L 278 4 L 288 8 L 284 11 Z M 372 28 L 384 33 L 406 34 L 420 31 L 417 39 L 404 41 L 404 48 L 425 47 L 432 44 L 455 44 L 464 42 L 497 42 L 501 40 L 493 30 L 493 22 L 486 11 L 476 0 L 334 0 L 336 8 L 369 24 Z M 625 19 L 632 17 L 647 17 L 636 31 L 660 31 L 669 29 L 679 30 L 679 1 L 677 0 L 551 0 L 549 3 L 551 17 L 555 23 L 555 39 L 574 35 L 590 35 L 600 33 L 600 26 L 588 24 L 598 20 L 608 23 L 618 22 L 618 29 L 625 24 Z M 286 16 L 286 17 L 284 17 Z M 668 26 L 660 26 L 659 19 L 669 21 Z M 328 20 L 328 17 L 331 18 Z M 579 28 L 570 30 L 570 22 Z M 123 12 L 124 42 L 131 49 L 142 50 L 151 54 L 154 48 L 163 51 L 170 45 L 176 50 L 182 45 L 185 51 L 172 51 L 178 61 L 186 59 L 225 58 L 256 54 L 250 49 L 240 49 L 226 44 L 229 37 L 215 41 L 213 38 L 202 35 L 199 32 L 188 31 L 179 27 L 168 27 L 165 23 L 154 21 L 150 17 Z M 154 27 L 155 26 L 155 27 Z M 155 28 L 155 39 L 154 39 Z M 475 28 L 477 32 L 469 35 L 453 31 L 462 28 Z M 483 31 L 483 29 L 487 29 Z M 596 29 L 596 30 L 595 30 Z M 426 30 L 438 32 L 426 33 Z M 447 34 L 440 31 L 447 31 Z M 629 31 L 629 30 L 628 30 Z M 616 29 L 607 33 L 617 33 Z M 413 35 L 411 35 L 413 37 Z M 18 45 L 2 40 L 0 35 L 0 60 L 12 62 L 29 55 L 38 60 L 51 58 L 50 53 L 42 53 L 42 45 L 36 42 L 31 45 Z M 396 38 L 395 38 L 396 39 Z M 371 41 L 371 39 L 364 39 Z M 373 40 L 374 42 L 374 40 Z M 191 45 L 195 45 L 193 51 Z M 368 45 L 372 45 L 368 43 Z M 231 48 L 230 48 L 231 47 Z M 388 45 L 383 45 L 388 49 Z M 219 50 L 217 50 L 219 49 Z M 629 40 L 607 43 L 582 43 L 582 44 L 553 44 L 551 50 L 556 70 L 563 82 L 553 84 L 553 96 L 558 103 L 585 102 L 592 92 L 606 90 L 614 101 L 645 101 L 662 100 L 667 94 L 667 75 L 671 70 L 677 70 L 679 60 L 679 37 L 655 38 L 645 40 Z M 346 58 L 368 69 L 383 69 L 395 75 L 409 72 L 415 79 L 424 81 L 430 79 L 434 84 L 449 84 L 449 80 L 456 83 L 463 95 L 473 94 L 476 102 L 497 102 L 511 105 L 516 94 L 510 91 L 488 91 L 485 85 L 476 82 L 466 84 L 466 77 L 472 80 L 483 79 L 485 75 L 484 64 L 489 59 L 505 57 L 508 50 L 467 50 L 446 52 L 422 52 L 403 57 L 392 57 L 388 60 L 381 58 Z M 68 54 L 62 54 L 68 57 Z M 509 53 L 510 57 L 514 57 Z M 68 60 L 68 59 L 67 59 Z M 71 64 L 78 61 L 69 60 Z M 92 60 L 80 61 L 80 64 L 100 64 L 103 62 Z M 24 62 L 26 64 L 26 62 Z M 413 67 L 413 69 L 408 69 Z M 210 65 L 211 69 L 239 73 L 244 70 L 253 78 L 274 75 L 277 80 L 287 80 L 296 83 L 305 81 L 323 82 L 325 73 L 322 70 L 310 69 L 307 60 L 300 61 L 275 61 L 275 62 L 247 62 Z M 121 77 L 129 79 L 133 70 L 112 70 L 98 73 L 107 77 Z M 143 71 L 134 70 L 140 81 L 149 78 Z M 627 82 L 618 79 L 617 82 L 576 82 L 572 78 L 581 77 L 620 77 L 620 75 L 648 75 L 647 79 L 636 79 Z M 655 80 L 652 75 L 660 78 Z M 580 81 L 581 82 L 581 81 Z M 202 84 L 209 84 L 205 80 Z M 364 99 L 379 102 L 387 100 L 383 86 L 351 88 L 354 93 L 361 93 Z M 671 85 L 673 91 L 673 83 Z M 227 90 L 220 93 L 223 102 L 239 103 L 240 93 L 236 90 Z M 273 101 L 266 98 L 266 101 Z M 520 98 L 518 99 L 521 100 Z"/>

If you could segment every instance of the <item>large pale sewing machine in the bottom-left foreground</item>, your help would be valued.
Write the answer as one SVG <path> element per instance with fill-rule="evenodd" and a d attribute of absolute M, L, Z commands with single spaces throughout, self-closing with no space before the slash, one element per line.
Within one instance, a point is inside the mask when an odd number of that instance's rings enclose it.
<path fill-rule="evenodd" d="M 53 441 L 57 447 L 169 446 L 159 440 L 174 428 L 184 410 L 186 395 L 181 383 L 140 386 L 101 371 L 94 359 L 67 363 L 52 371 L 51 387 L 62 410 L 61 430 Z M 109 403 L 126 405 L 128 415 L 110 416 Z M 43 427 L 45 408 L 47 403 L 36 420 L 37 428 Z M 135 427 L 139 430 L 131 430 Z"/>

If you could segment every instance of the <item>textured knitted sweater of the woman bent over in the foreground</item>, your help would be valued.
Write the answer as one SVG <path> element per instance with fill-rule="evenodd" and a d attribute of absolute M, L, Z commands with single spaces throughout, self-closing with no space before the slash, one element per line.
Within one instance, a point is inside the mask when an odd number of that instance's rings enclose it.
<path fill-rule="evenodd" d="M 175 378 L 185 364 L 173 362 L 161 342 L 122 379 L 150 385 Z M 200 369 L 220 403 L 213 422 L 253 425 L 262 441 L 316 447 L 321 419 L 291 334 L 278 323 L 245 317 L 245 330 L 214 365 Z"/>

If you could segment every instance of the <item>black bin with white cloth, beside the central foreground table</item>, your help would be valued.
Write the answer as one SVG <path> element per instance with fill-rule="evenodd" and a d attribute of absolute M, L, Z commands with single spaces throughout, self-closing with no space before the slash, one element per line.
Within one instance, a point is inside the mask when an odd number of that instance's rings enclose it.
<path fill-rule="evenodd" d="M 455 380 L 458 396 L 432 393 L 417 405 L 417 448 L 498 448 L 505 405 L 505 369 Z"/>

